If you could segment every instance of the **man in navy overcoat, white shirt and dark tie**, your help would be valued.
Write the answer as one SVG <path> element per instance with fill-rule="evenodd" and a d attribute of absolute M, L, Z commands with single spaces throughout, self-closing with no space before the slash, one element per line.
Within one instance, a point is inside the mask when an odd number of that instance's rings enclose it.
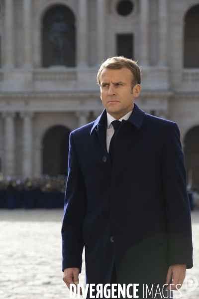
<path fill-rule="evenodd" d="M 88 284 L 139 284 L 139 298 L 164 298 L 144 296 L 145 286 L 173 280 L 166 298 L 193 267 L 187 177 L 177 124 L 134 103 L 140 82 L 136 62 L 107 59 L 98 73 L 105 109 L 70 135 L 63 280 L 78 283 L 85 246 Z"/>

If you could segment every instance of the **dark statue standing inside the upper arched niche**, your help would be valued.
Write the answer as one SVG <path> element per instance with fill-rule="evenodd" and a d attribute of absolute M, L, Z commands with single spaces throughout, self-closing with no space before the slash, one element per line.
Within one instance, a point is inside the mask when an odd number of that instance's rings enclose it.
<path fill-rule="evenodd" d="M 65 65 L 64 56 L 66 53 L 66 37 L 67 23 L 64 21 L 64 16 L 60 10 L 56 10 L 52 16 L 52 24 L 50 26 L 50 41 L 52 44 L 53 57 L 55 58 L 54 65 Z"/>

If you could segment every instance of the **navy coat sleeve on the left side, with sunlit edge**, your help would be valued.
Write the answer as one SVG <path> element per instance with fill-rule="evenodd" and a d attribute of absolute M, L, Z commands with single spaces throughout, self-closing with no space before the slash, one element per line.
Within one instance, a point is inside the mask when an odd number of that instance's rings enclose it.
<path fill-rule="evenodd" d="M 62 271 L 66 268 L 77 267 L 80 268 L 81 273 L 84 248 L 82 225 L 86 215 L 87 200 L 84 178 L 75 152 L 72 133 L 69 139 L 68 179 L 61 231 Z"/>

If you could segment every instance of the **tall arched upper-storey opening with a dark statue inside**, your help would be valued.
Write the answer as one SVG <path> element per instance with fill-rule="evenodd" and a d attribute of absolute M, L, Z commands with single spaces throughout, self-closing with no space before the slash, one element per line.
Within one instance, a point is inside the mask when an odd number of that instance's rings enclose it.
<path fill-rule="evenodd" d="M 65 5 L 54 5 L 42 20 L 42 65 L 75 66 L 75 16 Z"/>

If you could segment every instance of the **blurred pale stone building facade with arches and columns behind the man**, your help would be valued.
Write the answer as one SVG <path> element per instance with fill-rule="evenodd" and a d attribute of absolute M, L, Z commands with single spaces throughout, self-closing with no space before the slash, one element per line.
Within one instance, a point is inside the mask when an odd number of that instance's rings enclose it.
<path fill-rule="evenodd" d="M 96 76 L 138 60 L 146 113 L 178 123 L 199 186 L 199 0 L 0 0 L 0 171 L 64 174 L 68 137 L 103 106 Z"/>

